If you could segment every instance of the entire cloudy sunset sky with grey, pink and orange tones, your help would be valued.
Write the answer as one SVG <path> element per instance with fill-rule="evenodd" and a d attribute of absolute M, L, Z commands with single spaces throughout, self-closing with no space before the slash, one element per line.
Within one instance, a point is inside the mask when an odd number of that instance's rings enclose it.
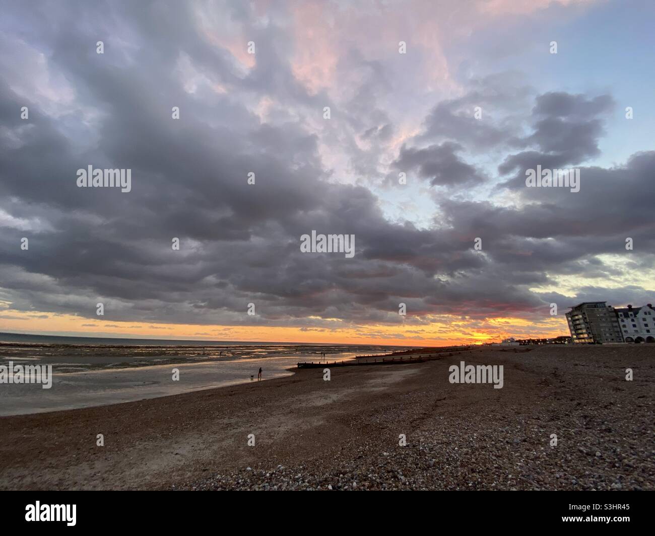
<path fill-rule="evenodd" d="M 655 303 L 651 1 L 0 12 L 0 331 L 441 346 Z"/>

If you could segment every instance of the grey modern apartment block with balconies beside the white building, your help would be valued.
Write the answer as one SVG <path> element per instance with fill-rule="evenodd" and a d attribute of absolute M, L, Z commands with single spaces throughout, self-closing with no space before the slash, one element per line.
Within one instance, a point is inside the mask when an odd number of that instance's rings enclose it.
<path fill-rule="evenodd" d="M 574 344 L 623 342 L 618 317 L 607 302 L 582 302 L 566 313 Z"/>

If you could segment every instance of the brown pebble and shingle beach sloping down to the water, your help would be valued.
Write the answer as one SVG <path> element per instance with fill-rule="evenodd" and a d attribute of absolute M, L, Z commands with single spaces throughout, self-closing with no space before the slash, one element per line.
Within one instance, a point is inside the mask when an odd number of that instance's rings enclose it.
<path fill-rule="evenodd" d="M 5 416 L 0 488 L 652 490 L 653 346 L 476 348 Z M 449 382 L 462 361 L 502 365 L 503 387 Z"/>

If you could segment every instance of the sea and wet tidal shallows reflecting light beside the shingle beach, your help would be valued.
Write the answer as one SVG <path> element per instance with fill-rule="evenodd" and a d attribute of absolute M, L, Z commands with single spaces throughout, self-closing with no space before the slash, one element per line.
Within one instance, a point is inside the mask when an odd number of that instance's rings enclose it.
<path fill-rule="evenodd" d="M 52 385 L 0 382 L 0 416 L 120 404 L 291 376 L 301 361 L 330 363 L 409 347 L 164 340 L 0 333 L 0 366 L 43 365 Z M 258 372 L 261 370 L 261 383 Z M 322 378 L 322 368 L 316 369 Z"/>

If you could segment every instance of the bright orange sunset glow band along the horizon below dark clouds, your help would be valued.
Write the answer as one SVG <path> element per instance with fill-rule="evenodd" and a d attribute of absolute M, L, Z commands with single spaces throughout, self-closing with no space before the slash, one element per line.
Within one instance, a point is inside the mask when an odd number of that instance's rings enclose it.
<path fill-rule="evenodd" d="M 382 344 L 390 346 L 454 346 L 498 342 L 514 336 L 554 337 L 568 334 L 561 317 L 549 317 L 538 325 L 518 317 L 484 321 L 444 317 L 443 321 L 415 325 L 352 325 L 326 327 L 217 326 L 162 324 L 89 319 L 46 312 L 0 312 L 0 332 L 62 336 L 187 339 L 207 341 L 299 342 L 310 344 Z M 479 327 L 473 329 L 472 323 Z"/>

